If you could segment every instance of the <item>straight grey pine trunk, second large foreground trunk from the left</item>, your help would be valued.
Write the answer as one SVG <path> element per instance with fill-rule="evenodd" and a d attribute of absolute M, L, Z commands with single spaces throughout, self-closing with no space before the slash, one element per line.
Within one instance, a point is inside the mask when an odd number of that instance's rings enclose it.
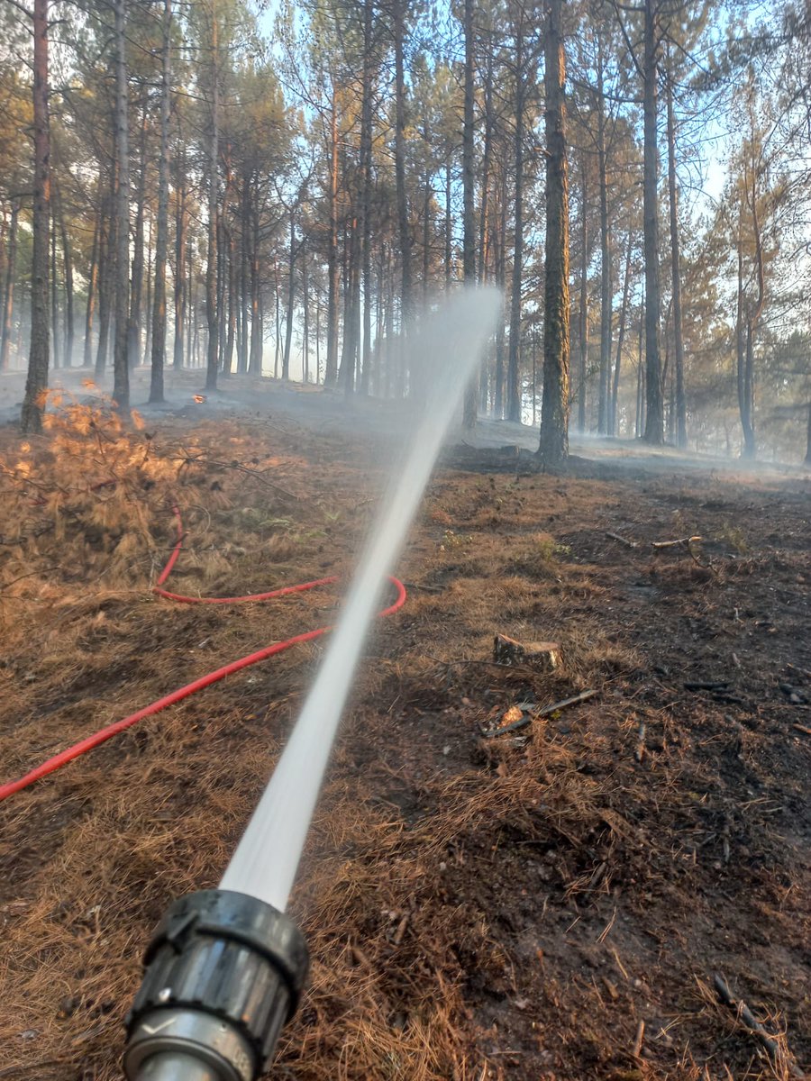
<path fill-rule="evenodd" d="M 127 14 L 129 0 L 115 0 L 116 16 L 116 344 L 112 398 L 130 408 L 128 320 L 130 316 L 130 147 L 128 131 Z"/>

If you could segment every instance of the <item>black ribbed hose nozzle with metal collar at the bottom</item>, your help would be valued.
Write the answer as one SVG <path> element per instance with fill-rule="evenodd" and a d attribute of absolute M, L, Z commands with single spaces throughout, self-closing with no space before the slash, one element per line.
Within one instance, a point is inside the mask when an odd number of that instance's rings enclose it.
<path fill-rule="evenodd" d="M 255 1081 L 295 1013 L 309 957 L 283 912 L 247 894 L 174 902 L 127 1017 L 129 1081 Z"/>

